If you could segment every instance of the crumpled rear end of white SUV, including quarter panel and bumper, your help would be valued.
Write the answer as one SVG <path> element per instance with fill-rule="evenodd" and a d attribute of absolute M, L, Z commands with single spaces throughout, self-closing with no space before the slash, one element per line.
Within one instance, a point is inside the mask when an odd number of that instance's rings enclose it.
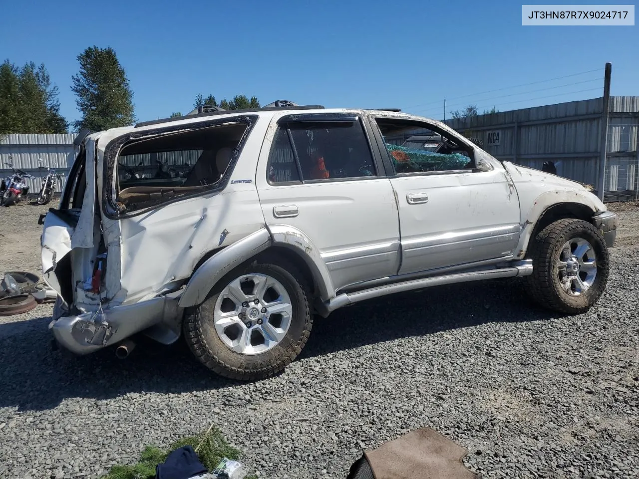
<path fill-rule="evenodd" d="M 75 139 L 59 208 L 40 219 L 43 276 L 58 293 L 56 345 L 75 354 L 122 346 L 126 356 L 141 331 L 173 343 L 192 272 L 263 225 L 252 180 L 233 185 L 242 217 L 227 217 L 222 195 L 257 117 L 188 120 Z"/>

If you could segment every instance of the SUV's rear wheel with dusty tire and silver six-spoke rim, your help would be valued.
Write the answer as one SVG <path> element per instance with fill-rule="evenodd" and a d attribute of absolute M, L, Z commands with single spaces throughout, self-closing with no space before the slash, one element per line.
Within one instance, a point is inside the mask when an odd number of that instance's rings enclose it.
<path fill-rule="evenodd" d="M 258 294 L 259 304 L 236 299 L 246 294 L 238 291 L 240 285 L 249 294 L 242 300 L 256 298 L 254 292 L 264 278 L 272 286 Z M 309 338 L 312 315 L 307 291 L 302 275 L 292 265 L 255 261 L 240 266 L 222 278 L 199 307 L 187 312 L 183 321 L 185 340 L 197 359 L 220 376 L 242 381 L 273 376 L 295 360 Z M 263 305 L 282 313 L 268 312 Z M 254 316 L 256 310 L 259 314 Z M 238 312 L 245 317 L 238 317 Z M 223 314 L 235 316 L 220 319 Z M 245 323 L 249 321 L 251 326 L 247 328 Z"/>

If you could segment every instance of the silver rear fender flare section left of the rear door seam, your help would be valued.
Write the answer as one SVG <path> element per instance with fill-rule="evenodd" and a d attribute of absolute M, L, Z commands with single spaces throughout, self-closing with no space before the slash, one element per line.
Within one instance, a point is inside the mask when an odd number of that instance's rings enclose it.
<path fill-rule="evenodd" d="M 180 298 L 180 307 L 188 308 L 202 303 L 213 285 L 226 273 L 250 257 L 263 252 L 270 245 L 270 233 L 266 228 L 261 228 L 215 253 L 190 277 Z"/>

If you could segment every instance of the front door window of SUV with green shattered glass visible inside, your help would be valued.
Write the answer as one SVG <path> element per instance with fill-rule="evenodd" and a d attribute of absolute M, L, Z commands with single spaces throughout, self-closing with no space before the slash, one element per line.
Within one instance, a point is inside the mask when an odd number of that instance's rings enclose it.
<path fill-rule="evenodd" d="M 448 133 L 410 121 L 377 118 L 376 122 L 397 174 L 460 171 L 475 166 L 473 149 Z"/>

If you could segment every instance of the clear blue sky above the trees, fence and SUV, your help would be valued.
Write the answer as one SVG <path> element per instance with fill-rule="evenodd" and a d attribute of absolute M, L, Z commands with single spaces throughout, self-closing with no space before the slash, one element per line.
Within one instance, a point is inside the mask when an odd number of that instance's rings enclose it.
<path fill-rule="evenodd" d="M 639 95 L 639 26 L 522 26 L 513 1 L 0 0 L 0 12 L 0 61 L 44 63 L 69 121 L 77 56 L 93 45 L 116 50 L 139 121 L 187 113 L 198 93 L 435 119 L 444 98 L 447 118 L 469 103 L 505 111 L 597 98 L 607 61 L 611 94 Z"/>

